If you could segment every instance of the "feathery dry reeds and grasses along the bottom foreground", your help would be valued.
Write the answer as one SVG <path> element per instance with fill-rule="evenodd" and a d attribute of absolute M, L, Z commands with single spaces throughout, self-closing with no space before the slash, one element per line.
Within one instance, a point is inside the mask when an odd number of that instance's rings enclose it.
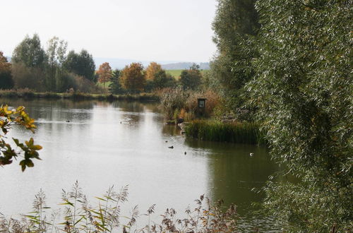
<path fill-rule="evenodd" d="M 164 214 L 154 216 L 155 204 L 148 208 L 145 214 L 140 214 L 136 205 L 129 217 L 121 215 L 121 204 L 127 201 L 128 186 L 119 192 L 114 186 L 100 197 L 98 203 L 92 206 L 83 195 L 78 182 L 71 191 L 64 191 L 61 196 L 64 210 L 54 210 L 48 217 L 45 210 L 49 209 L 45 203 L 45 195 L 40 191 L 35 196 L 33 211 L 23 215 L 22 220 L 6 219 L 0 215 L 0 232 L 235 232 L 238 229 L 239 216 L 234 205 L 225 209 L 223 202 L 215 204 L 204 195 L 196 199 L 196 206 L 186 208 L 183 217 L 177 217 L 174 208 L 167 208 Z M 60 216 L 62 216 L 60 218 Z M 138 220 L 147 225 L 140 228 Z M 126 221 L 121 221 L 124 218 Z M 59 221 L 59 222 L 58 222 Z M 140 224 L 141 225 L 141 224 Z"/>

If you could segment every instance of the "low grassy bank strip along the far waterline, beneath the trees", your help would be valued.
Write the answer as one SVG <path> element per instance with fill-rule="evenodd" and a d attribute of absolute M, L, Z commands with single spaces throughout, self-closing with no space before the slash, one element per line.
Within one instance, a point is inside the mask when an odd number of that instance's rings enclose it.
<path fill-rule="evenodd" d="M 148 100 L 158 101 L 160 97 L 152 93 L 140 93 L 136 95 L 104 95 L 88 94 L 82 92 L 56 93 L 56 92 L 33 92 L 32 90 L 0 90 L 0 97 L 10 98 L 44 98 L 44 99 L 71 99 L 71 100 Z"/>

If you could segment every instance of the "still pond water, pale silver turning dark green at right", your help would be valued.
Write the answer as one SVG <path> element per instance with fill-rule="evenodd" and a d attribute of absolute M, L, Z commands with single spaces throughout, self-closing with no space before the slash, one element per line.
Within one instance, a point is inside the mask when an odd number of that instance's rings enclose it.
<path fill-rule="evenodd" d="M 40 189 L 47 204 L 59 208 L 61 189 L 71 189 L 78 180 L 92 203 L 109 186 L 128 184 L 128 203 L 123 206 L 127 213 L 134 205 L 144 213 L 154 203 L 157 214 L 170 207 L 184 213 L 205 193 L 214 201 L 236 203 L 245 224 L 271 228 L 270 220 L 251 213 L 251 203 L 263 198 L 251 189 L 263 186 L 278 170 L 264 147 L 186 139 L 175 126 L 164 124 L 157 104 L 151 102 L 1 99 L 2 103 L 24 105 L 37 124 L 35 134 L 15 126 L 8 138 L 33 137 L 43 146 L 42 160 L 35 160 L 34 168 L 20 172 L 16 161 L 0 167 L 4 215 L 28 213 Z"/>

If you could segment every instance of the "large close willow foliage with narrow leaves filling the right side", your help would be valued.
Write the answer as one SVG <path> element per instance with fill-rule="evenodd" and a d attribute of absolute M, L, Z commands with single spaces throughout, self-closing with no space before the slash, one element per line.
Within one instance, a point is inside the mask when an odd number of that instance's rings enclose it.
<path fill-rule="evenodd" d="M 261 46 L 247 85 L 271 154 L 296 184 L 265 206 L 289 232 L 352 229 L 352 0 L 260 0 Z"/>

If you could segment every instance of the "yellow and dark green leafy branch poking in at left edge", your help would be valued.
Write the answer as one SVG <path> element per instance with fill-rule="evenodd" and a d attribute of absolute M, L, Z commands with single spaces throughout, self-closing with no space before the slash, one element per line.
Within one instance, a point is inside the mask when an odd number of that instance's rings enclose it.
<path fill-rule="evenodd" d="M 11 145 L 6 142 L 6 134 L 11 129 L 13 124 L 23 126 L 34 133 L 36 128 L 34 124 L 35 120 L 30 118 L 25 112 L 25 107 L 18 107 L 17 109 L 8 109 L 8 105 L 1 105 L 0 107 L 0 166 L 9 165 L 13 162 L 13 158 L 19 156 L 23 157 L 20 161 L 22 171 L 25 171 L 26 167 L 33 167 L 34 164 L 32 159 L 40 160 L 37 150 L 41 150 L 42 146 L 35 145 L 33 138 L 29 141 L 25 141 L 25 144 L 20 143 L 17 138 L 13 138 L 20 151 L 16 151 Z"/>

